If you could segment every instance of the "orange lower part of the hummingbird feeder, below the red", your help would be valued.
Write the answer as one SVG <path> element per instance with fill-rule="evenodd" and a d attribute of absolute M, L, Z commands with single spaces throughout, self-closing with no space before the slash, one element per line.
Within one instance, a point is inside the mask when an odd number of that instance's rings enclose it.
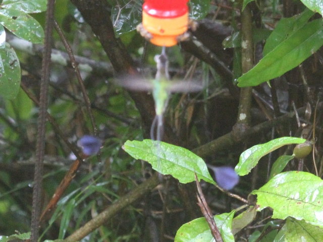
<path fill-rule="evenodd" d="M 177 36 L 187 31 L 188 13 L 177 18 L 156 18 L 143 11 L 142 26 L 151 33 L 151 43 L 170 47 L 177 44 Z"/>

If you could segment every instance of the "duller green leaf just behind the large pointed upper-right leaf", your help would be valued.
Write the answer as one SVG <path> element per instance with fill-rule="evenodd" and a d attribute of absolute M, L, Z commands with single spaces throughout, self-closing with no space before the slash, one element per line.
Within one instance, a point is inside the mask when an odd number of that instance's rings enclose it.
<path fill-rule="evenodd" d="M 275 49 L 277 45 L 302 28 L 313 14 L 314 13 L 312 11 L 306 9 L 300 15 L 296 15 L 291 18 L 282 18 L 278 22 L 272 34 L 266 40 L 266 44 L 262 51 L 263 56 Z"/>

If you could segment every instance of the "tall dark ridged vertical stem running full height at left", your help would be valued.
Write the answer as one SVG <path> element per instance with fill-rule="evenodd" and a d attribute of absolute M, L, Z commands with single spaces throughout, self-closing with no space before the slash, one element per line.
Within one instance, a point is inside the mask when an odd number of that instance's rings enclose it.
<path fill-rule="evenodd" d="M 45 23 L 45 37 L 44 50 L 42 57 L 42 72 L 40 83 L 40 97 L 39 97 L 39 116 L 37 125 L 37 142 L 36 142 L 36 162 L 34 187 L 32 197 L 32 212 L 31 212 L 31 235 L 30 241 L 37 242 L 39 237 L 39 217 L 41 209 L 41 191 L 42 191 L 42 170 L 45 149 L 45 130 L 46 130 L 46 110 L 47 110 L 47 94 L 48 83 L 50 76 L 50 55 L 51 55 L 51 34 L 53 28 L 55 10 L 55 0 L 48 0 L 46 23 Z"/>

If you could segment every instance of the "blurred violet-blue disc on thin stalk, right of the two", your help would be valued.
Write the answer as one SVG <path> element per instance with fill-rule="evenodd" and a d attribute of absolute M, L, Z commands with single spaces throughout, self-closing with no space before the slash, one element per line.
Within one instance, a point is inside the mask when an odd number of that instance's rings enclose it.
<path fill-rule="evenodd" d="M 216 181 L 220 188 L 225 190 L 233 189 L 239 183 L 239 175 L 231 166 L 213 166 L 207 165 L 208 168 L 214 171 Z"/>

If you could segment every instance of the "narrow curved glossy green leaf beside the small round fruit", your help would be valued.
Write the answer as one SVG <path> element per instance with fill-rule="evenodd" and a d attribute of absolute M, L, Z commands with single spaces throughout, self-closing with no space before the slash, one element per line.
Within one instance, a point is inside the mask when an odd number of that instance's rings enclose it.
<path fill-rule="evenodd" d="M 248 174 L 253 167 L 255 167 L 258 161 L 265 156 L 266 154 L 277 150 L 278 148 L 284 145 L 290 144 L 301 144 L 306 140 L 295 137 L 282 137 L 265 144 L 255 145 L 246 151 L 242 152 L 240 155 L 239 163 L 235 167 L 235 171 L 238 175 L 246 175 Z"/>

